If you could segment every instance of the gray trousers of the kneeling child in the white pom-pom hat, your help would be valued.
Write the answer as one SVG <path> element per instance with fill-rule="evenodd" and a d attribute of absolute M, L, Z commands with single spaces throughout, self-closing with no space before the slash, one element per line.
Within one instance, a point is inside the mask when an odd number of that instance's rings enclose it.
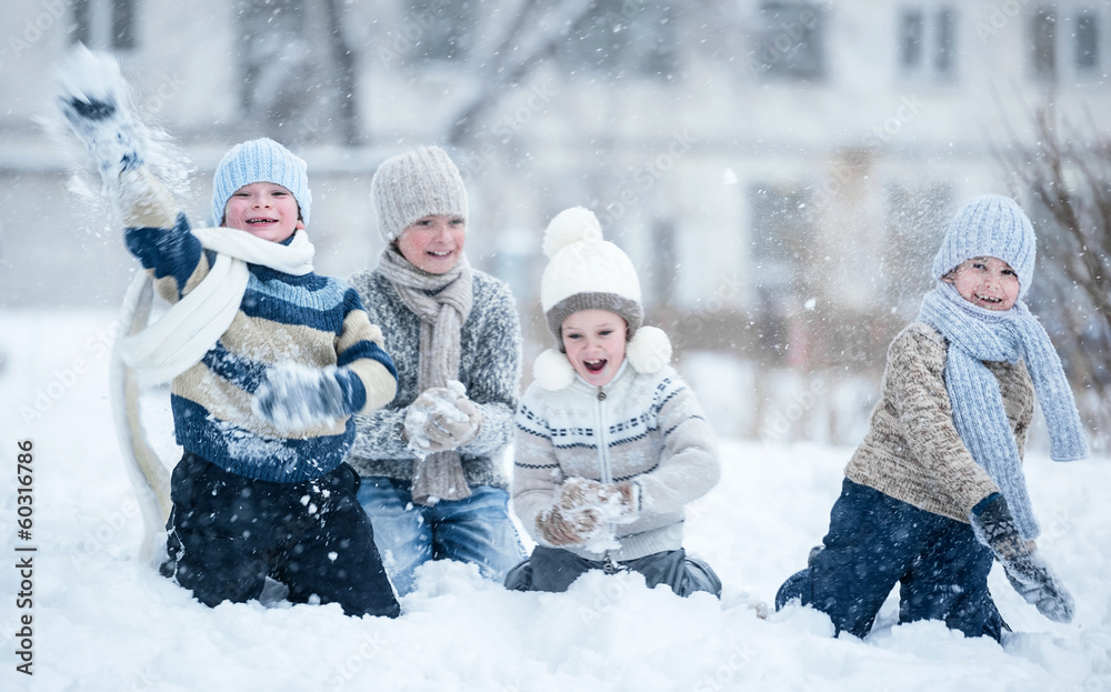
<path fill-rule="evenodd" d="M 681 548 L 607 565 L 605 562 L 587 560 L 565 550 L 538 545 L 532 550 L 532 556 L 510 570 L 506 588 L 512 591 L 563 592 L 590 570 L 632 570 L 644 575 L 649 589 L 667 584 L 684 598 L 695 591 L 707 591 L 721 598 L 721 580 L 714 571 L 705 562 L 688 558 L 687 551 Z"/>

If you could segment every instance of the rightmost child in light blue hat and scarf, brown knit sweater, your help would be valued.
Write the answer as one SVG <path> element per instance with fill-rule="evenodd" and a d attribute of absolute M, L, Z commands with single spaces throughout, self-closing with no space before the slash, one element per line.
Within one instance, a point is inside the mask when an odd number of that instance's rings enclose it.
<path fill-rule="evenodd" d="M 988 591 L 994 558 L 1043 615 L 1072 620 L 1071 596 L 1035 550 L 1021 467 L 1035 392 L 1052 458 L 1088 453 L 1061 362 L 1022 302 L 1034 243 L 1008 198 L 979 197 L 953 218 L 933 261 L 938 284 L 888 351 L 829 532 L 777 609 L 799 600 L 863 636 L 898 582 L 900 622 L 944 620 L 1000 640 L 1009 628 Z"/>

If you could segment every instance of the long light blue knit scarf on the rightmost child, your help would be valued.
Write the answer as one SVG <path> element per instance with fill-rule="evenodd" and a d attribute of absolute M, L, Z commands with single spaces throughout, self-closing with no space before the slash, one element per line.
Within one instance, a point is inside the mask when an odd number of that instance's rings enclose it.
<path fill-rule="evenodd" d="M 999 485 L 1022 538 L 1037 538 L 1041 530 L 1027 494 L 1019 449 L 1003 411 L 999 382 L 982 361 L 1015 363 L 1022 359 L 1049 427 L 1050 458 L 1084 459 L 1088 443 L 1080 413 L 1049 335 L 1021 300 L 1003 312 L 985 310 L 961 298 L 955 287 L 943 281 L 922 299 L 918 319 L 949 340 L 945 389 L 957 433 L 975 462 Z"/>

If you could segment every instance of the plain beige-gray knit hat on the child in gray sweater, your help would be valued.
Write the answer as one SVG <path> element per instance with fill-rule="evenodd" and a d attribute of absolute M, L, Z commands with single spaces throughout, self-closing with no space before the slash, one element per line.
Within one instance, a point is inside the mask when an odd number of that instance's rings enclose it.
<path fill-rule="evenodd" d="M 370 181 L 370 197 L 378 230 L 387 243 L 424 217 L 446 214 L 467 220 L 463 177 L 439 147 L 418 147 L 383 161 Z"/>

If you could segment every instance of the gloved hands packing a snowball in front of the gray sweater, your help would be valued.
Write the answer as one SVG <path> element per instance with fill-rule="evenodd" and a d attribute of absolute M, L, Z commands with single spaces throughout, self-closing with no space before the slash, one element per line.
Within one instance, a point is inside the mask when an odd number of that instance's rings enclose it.
<path fill-rule="evenodd" d="M 429 388 L 406 412 L 409 448 L 424 457 L 463 447 L 478 437 L 482 420 L 482 411 L 467 398 L 461 382 Z"/>

